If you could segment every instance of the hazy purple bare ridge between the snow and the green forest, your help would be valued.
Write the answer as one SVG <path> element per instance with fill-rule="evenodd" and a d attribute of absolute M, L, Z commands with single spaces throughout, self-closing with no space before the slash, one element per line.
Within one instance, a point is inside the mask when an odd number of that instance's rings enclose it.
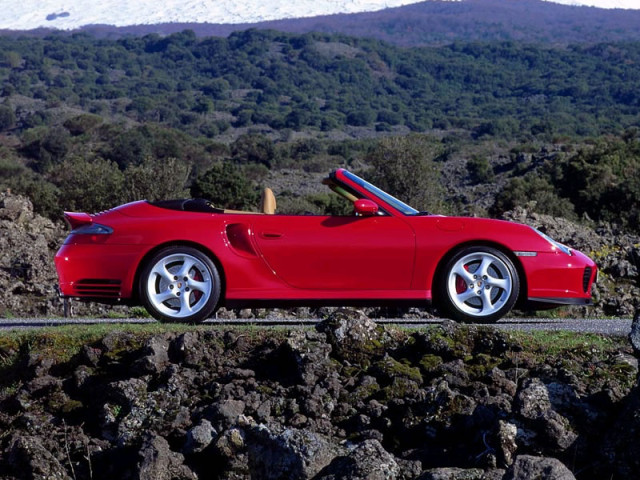
<path fill-rule="evenodd" d="M 600 43 L 640 40 L 640 10 L 572 7 L 541 0 L 430 0 L 372 13 L 330 15 L 259 24 L 162 24 L 84 30 L 106 37 L 169 34 L 184 29 L 198 36 L 223 36 L 248 28 L 292 33 L 342 33 L 373 37 L 396 45 L 448 44 L 458 41 L 527 43 Z"/>

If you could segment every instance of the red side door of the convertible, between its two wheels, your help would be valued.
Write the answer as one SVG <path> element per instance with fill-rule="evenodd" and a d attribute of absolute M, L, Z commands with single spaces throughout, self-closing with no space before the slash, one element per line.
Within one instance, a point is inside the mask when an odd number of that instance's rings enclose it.
<path fill-rule="evenodd" d="M 413 229 L 393 216 L 254 217 L 264 260 L 301 289 L 402 290 L 411 285 Z"/>

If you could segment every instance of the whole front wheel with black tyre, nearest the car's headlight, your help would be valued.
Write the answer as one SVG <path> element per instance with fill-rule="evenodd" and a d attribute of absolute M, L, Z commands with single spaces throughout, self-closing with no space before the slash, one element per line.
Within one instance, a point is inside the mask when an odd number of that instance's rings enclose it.
<path fill-rule="evenodd" d="M 438 279 L 445 313 L 463 322 L 495 322 L 513 308 L 520 279 L 513 262 L 491 247 L 466 247 L 451 257 Z"/>

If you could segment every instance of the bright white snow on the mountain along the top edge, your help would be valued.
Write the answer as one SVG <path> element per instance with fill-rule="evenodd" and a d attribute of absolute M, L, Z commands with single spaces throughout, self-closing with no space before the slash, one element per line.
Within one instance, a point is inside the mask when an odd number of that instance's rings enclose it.
<path fill-rule="evenodd" d="M 432 0 L 466 1 L 466 0 Z M 506 1 L 506 0 L 505 0 Z M 640 0 L 546 0 L 563 5 L 640 9 Z M 73 30 L 85 25 L 257 23 L 337 13 L 373 12 L 416 0 L 5 0 L 0 29 Z"/>

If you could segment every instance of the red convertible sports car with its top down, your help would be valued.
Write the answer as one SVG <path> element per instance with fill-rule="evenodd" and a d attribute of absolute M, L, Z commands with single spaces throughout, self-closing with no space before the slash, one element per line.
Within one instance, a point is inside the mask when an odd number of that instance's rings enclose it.
<path fill-rule="evenodd" d="M 259 213 L 200 199 L 66 212 L 61 294 L 183 322 L 219 306 L 430 302 L 493 322 L 516 304 L 591 303 L 595 263 L 529 226 L 419 212 L 344 169 L 323 183 L 352 215 L 280 215 L 269 189 Z"/>

